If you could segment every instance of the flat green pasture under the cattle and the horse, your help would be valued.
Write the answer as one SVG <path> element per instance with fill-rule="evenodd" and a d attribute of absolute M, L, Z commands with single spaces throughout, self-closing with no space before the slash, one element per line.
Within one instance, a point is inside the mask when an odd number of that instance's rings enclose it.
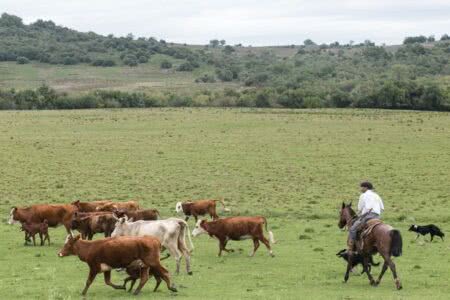
<path fill-rule="evenodd" d="M 27 67 L 27 66 L 23 66 Z M 110 69 L 106 69 L 110 70 Z M 217 257 L 218 243 L 194 239 L 194 276 L 173 276 L 180 299 L 448 299 L 447 241 L 407 232 L 413 222 L 449 233 L 450 114 L 378 110 L 152 109 L 0 112 L 1 299 L 79 299 L 88 268 L 60 259 L 64 229 L 50 247 L 23 246 L 10 207 L 75 199 L 138 199 L 173 216 L 180 200 L 225 197 L 232 215 L 262 214 L 278 243 L 275 258 L 251 242 Z M 343 284 L 335 253 L 342 201 L 370 179 L 385 220 L 401 230 L 396 264 L 377 288 L 366 276 Z M 190 221 L 191 230 L 193 221 Z M 375 257 L 380 261 L 380 257 Z M 173 271 L 174 263 L 164 263 Z M 378 275 L 380 268 L 374 267 Z M 123 274 L 113 274 L 121 282 Z M 139 298 L 173 298 L 154 281 Z M 88 297 L 132 298 L 98 276 Z"/>

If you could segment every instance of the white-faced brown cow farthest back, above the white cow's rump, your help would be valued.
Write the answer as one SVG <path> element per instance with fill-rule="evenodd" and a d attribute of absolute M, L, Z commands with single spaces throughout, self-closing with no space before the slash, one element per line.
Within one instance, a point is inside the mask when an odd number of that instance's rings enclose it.
<path fill-rule="evenodd" d="M 195 222 L 198 220 L 198 216 L 204 216 L 209 214 L 213 220 L 217 220 L 219 216 L 216 213 L 216 202 L 219 201 L 223 205 L 224 211 L 230 211 L 225 206 L 225 202 L 222 199 L 219 200 L 197 200 L 193 202 L 177 202 L 175 211 L 177 213 L 183 213 L 189 220 L 190 216 L 194 216 Z"/>

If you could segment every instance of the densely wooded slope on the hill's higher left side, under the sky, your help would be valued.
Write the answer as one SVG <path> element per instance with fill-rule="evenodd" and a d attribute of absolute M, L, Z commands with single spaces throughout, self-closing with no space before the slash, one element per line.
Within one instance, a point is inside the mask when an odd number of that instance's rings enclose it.
<path fill-rule="evenodd" d="M 153 37 L 103 36 L 57 26 L 52 21 L 37 20 L 26 25 L 14 15 L 3 13 L 0 17 L 0 61 L 136 66 L 148 62 L 156 53 L 185 59 L 192 68 L 200 63 L 200 57 L 194 51 L 169 46 L 164 40 Z"/>

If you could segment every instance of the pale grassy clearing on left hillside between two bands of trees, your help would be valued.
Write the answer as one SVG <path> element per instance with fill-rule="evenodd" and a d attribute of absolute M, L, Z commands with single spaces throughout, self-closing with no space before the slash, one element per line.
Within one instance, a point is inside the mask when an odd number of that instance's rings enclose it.
<path fill-rule="evenodd" d="M 174 67 L 160 68 L 161 61 L 167 59 Z M 195 83 L 195 79 L 205 72 L 213 73 L 209 67 L 201 67 L 193 72 L 177 72 L 175 68 L 181 60 L 169 56 L 154 55 L 146 64 L 137 67 L 93 67 L 89 65 L 50 65 L 31 63 L 19 65 L 15 62 L 0 62 L 0 89 L 37 88 L 47 84 L 59 92 L 72 94 L 92 90 L 108 89 L 129 92 L 172 91 L 189 93 L 201 89 L 223 89 L 236 83 Z"/>

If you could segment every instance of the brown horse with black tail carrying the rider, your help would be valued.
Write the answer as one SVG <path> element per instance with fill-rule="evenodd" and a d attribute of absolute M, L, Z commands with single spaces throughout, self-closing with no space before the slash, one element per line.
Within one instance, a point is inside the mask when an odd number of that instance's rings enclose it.
<path fill-rule="evenodd" d="M 339 228 L 347 227 L 349 229 L 353 222 L 356 219 L 356 213 L 351 207 L 350 204 L 342 203 L 341 214 L 339 219 Z M 400 283 L 400 279 L 397 277 L 397 271 L 395 270 L 395 264 L 392 261 L 391 257 L 398 257 L 402 255 L 402 236 L 400 231 L 396 229 L 392 229 L 391 226 L 387 224 L 380 224 L 373 228 L 372 232 L 363 238 L 363 248 L 359 249 L 360 254 L 364 257 L 364 271 L 369 278 L 370 284 L 373 286 L 377 286 L 387 268 L 391 269 L 392 275 L 394 276 L 395 286 L 398 290 L 402 288 L 402 284 Z M 370 269 L 368 268 L 368 264 L 370 261 L 370 257 L 376 253 L 379 253 L 383 259 L 384 264 L 381 270 L 380 276 L 375 281 L 370 274 Z M 345 272 L 344 281 L 347 282 L 350 270 L 352 269 L 351 257 L 349 255 L 347 271 Z"/>

